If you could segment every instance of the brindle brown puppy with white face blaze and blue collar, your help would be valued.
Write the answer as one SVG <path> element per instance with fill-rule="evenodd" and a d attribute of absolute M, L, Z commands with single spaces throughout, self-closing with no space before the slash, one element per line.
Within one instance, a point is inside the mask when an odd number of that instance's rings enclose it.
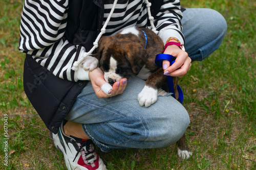
<path fill-rule="evenodd" d="M 168 91 L 163 68 L 155 64 L 156 55 L 161 54 L 163 48 L 161 38 L 146 28 L 132 27 L 114 36 L 102 37 L 97 48 L 97 57 L 105 81 L 113 85 L 132 75 L 146 80 L 144 88 L 138 94 L 138 101 L 140 106 L 149 107 L 157 101 L 159 88 Z M 173 80 L 175 96 L 178 99 L 178 78 L 174 77 Z M 184 135 L 178 142 L 178 155 L 182 159 L 191 155 Z"/>

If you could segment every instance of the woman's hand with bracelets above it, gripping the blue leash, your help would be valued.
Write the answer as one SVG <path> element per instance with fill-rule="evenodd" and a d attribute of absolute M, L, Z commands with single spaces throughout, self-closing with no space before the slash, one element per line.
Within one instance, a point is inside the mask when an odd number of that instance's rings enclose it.
<path fill-rule="evenodd" d="M 174 64 L 171 66 L 169 61 L 163 61 L 164 75 L 181 78 L 187 74 L 191 66 L 191 59 L 186 52 L 181 50 L 177 45 L 169 45 L 165 49 L 164 54 L 170 54 L 176 57 Z"/>

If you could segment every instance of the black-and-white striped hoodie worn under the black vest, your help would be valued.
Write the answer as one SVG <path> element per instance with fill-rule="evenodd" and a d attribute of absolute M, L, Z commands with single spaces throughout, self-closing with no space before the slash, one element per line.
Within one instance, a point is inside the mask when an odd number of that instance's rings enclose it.
<path fill-rule="evenodd" d="M 69 0 L 25 0 L 20 20 L 19 51 L 32 55 L 56 77 L 75 82 L 90 80 L 89 71 L 71 69 L 75 56 L 78 55 L 79 60 L 91 49 L 74 45 L 63 38 L 67 26 L 68 4 Z M 104 3 L 104 21 L 112 6 L 113 4 Z M 103 36 L 112 36 L 120 28 L 147 27 L 147 18 L 145 0 L 119 1 Z M 179 0 L 164 0 L 157 18 L 154 24 L 163 42 L 169 37 L 176 37 L 184 43 Z"/>

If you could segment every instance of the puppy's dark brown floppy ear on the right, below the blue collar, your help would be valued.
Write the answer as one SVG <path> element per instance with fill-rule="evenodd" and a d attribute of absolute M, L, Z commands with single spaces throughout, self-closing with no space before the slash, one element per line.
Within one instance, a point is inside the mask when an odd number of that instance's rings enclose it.
<path fill-rule="evenodd" d="M 143 49 L 142 51 L 133 51 L 132 53 L 127 54 L 127 59 L 131 64 L 131 68 L 134 75 L 138 75 L 141 68 L 146 64 L 148 57 L 147 50 Z"/>

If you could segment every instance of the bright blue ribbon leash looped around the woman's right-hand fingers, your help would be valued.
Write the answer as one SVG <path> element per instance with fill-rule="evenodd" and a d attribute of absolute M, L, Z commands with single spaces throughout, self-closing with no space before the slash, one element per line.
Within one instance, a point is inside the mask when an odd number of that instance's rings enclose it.
<path fill-rule="evenodd" d="M 170 65 L 172 65 L 175 62 L 175 59 L 176 58 L 174 56 L 169 55 L 169 54 L 158 54 L 156 56 L 155 63 L 157 66 L 162 67 L 163 60 L 168 60 L 170 62 Z M 167 76 L 167 84 L 168 84 L 169 92 L 173 93 L 172 96 L 175 98 L 174 81 L 173 81 L 172 76 Z M 179 92 L 180 103 L 182 103 L 183 102 L 183 92 L 178 84 L 177 84 L 177 89 Z"/>

